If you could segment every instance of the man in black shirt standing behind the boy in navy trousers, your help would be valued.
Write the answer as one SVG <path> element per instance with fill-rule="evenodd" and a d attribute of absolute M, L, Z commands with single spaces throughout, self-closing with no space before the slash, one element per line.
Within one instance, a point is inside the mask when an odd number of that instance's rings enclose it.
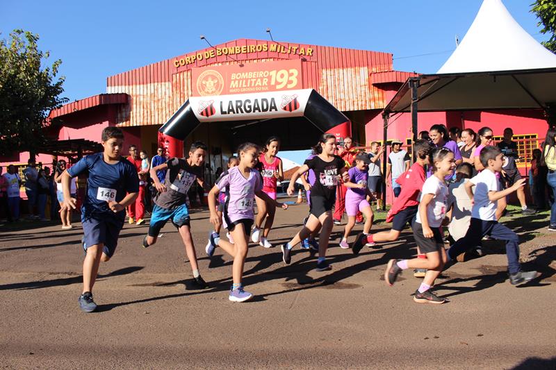
<path fill-rule="evenodd" d="M 514 131 L 512 131 L 512 128 L 507 127 L 504 129 L 504 140 L 497 144 L 498 148 L 500 148 L 502 153 L 505 155 L 504 167 L 502 167 L 504 171 L 502 171 L 502 177 L 500 178 L 505 189 L 512 187 L 512 185 L 514 185 L 514 183 L 521 178 L 521 174 L 519 173 L 516 165 L 516 159 L 519 158 L 517 153 L 517 143 L 512 142 L 512 137 L 514 137 Z M 534 210 L 527 208 L 523 187 L 520 187 L 516 194 L 517 199 L 521 204 L 521 213 L 523 215 L 534 214 Z"/>

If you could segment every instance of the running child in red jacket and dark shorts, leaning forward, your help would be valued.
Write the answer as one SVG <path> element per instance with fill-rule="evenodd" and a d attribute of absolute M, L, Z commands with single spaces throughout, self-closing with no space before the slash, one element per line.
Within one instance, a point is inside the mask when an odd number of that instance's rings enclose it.
<path fill-rule="evenodd" d="M 352 245 L 353 253 L 357 254 L 365 244 L 374 245 L 378 242 L 394 242 L 398 240 L 407 224 L 411 225 L 417 215 L 419 194 L 425 183 L 425 165 L 429 164 L 429 155 L 434 147 L 427 140 L 417 140 L 413 144 L 416 160 L 403 178 L 402 192 L 395 199 L 392 208 L 386 216 L 386 222 L 392 222 L 389 231 L 376 234 L 360 233 Z M 424 256 L 423 256 L 424 257 Z"/>

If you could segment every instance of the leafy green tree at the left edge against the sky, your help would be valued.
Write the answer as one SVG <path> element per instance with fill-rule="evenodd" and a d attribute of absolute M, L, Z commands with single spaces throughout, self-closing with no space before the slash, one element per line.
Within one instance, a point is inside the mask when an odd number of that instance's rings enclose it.
<path fill-rule="evenodd" d="M 56 79 L 56 60 L 38 49 L 38 35 L 14 30 L 0 40 L 0 155 L 38 153 L 44 143 L 49 111 L 67 102 L 61 98 L 64 77 Z"/>

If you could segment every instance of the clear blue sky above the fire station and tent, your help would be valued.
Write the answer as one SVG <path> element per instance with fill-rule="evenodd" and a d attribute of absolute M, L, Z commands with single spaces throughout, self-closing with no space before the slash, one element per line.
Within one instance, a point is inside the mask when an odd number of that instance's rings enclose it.
<path fill-rule="evenodd" d="M 0 37 L 38 33 L 40 48 L 63 61 L 65 96 L 105 92 L 106 77 L 238 38 L 386 51 L 395 69 L 434 73 L 464 37 L 482 0 L 370 1 L 5 1 Z M 503 0 L 536 40 L 532 0 Z M 426 55 L 423 55 L 426 54 Z M 306 152 L 289 154 L 300 161 Z M 284 155 L 284 153 L 282 153 Z"/>

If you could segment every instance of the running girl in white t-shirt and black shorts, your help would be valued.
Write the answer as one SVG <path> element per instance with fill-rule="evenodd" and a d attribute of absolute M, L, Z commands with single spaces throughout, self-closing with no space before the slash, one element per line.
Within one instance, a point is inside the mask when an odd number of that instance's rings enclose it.
<path fill-rule="evenodd" d="M 412 224 L 413 235 L 420 251 L 426 259 L 390 260 L 384 271 L 384 280 L 390 286 L 405 269 L 427 269 L 423 283 L 414 295 L 417 303 L 444 303 L 446 298 L 439 298 L 430 291 L 434 280 L 440 275 L 446 262 L 446 252 L 440 226 L 446 215 L 448 186 L 445 178 L 453 174 L 456 168 L 454 153 L 448 148 L 434 149 L 430 156 L 432 176 L 427 178 L 421 191 L 418 213 Z"/>

